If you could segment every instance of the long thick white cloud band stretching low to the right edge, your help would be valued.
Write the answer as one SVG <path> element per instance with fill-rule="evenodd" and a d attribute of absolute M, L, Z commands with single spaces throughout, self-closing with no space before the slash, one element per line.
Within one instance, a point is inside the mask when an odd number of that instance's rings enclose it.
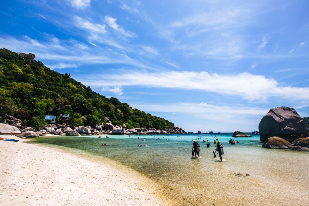
<path fill-rule="evenodd" d="M 220 95 L 242 97 L 249 101 L 266 101 L 271 97 L 291 101 L 309 100 L 309 87 L 280 86 L 271 78 L 249 73 L 220 75 L 207 72 L 168 71 L 168 72 L 122 72 L 117 76 L 104 75 L 106 80 L 84 80 L 84 84 L 95 86 L 146 86 L 157 88 L 203 90 Z"/>

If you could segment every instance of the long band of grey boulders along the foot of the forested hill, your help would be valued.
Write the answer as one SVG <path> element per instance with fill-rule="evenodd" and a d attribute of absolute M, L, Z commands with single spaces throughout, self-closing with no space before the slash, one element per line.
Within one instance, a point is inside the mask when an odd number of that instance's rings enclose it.
<path fill-rule="evenodd" d="M 108 120 L 108 119 L 107 119 Z M 54 134 L 60 136 L 81 136 L 81 135 L 146 135 L 146 134 L 183 134 L 187 133 L 184 129 L 179 127 L 172 127 L 170 129 L 159 130 L 156 128 L 131 128 L 127 129 L 125 124 L 113 125 L 108 120 L 108 123 L 95 125 L 95 128 L 90 126 L 79 126 L 71 128 L 69 125 L 63 124 L 49 124 L 41 127 L 35 131 L 31 127 L 22 127 L 21 120 L 13 116 L 6 116 L 1 119 L 0 117 L 0 134 L 9 135 L 15 132 L 21 138 L 25 137 L 38 137 L 45 134 Z"/>

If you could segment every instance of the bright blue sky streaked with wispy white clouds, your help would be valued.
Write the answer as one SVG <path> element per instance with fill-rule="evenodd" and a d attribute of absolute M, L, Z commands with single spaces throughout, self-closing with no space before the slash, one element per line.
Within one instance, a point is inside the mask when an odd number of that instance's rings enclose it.
<path fill-rule="evenodd" d="M 308 1 L 0 2 L 0 47 L 170 120 L 251 132 L 273 107 L 309 116 Z"/>

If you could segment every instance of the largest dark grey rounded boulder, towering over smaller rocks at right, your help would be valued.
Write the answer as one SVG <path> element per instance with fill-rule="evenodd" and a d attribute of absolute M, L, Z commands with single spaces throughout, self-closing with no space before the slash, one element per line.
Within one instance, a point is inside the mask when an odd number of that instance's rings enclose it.
<path fill-rule="evenodd" d="M 265 141 L 269 137 L 277 136 L 287 141 L 293 141 L 292 137 L 308 134 L 309 130 L 298 113 L 290 107 L 276 107 L 270 109 L 263 116 L 259 124 L 260 140 Z"/>

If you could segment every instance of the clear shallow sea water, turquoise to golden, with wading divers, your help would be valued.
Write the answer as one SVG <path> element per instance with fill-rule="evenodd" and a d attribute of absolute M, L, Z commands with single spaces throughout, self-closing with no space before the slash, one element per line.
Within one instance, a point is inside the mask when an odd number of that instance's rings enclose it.
<path fill-rule="evenodd" d="M 309 153 L 262 148 L 259 135 L 98 137 L 40 137 L 31 142 L 131 168 L 154 181 L 155 190 L 175 205 L 309 205 Z M 219 155 L 214 158 L 216 138 L 224 148 L 223 162 Z M 230 138 L 240 143 L 229 144 Z M 193 139 L 201 145 L 201 158 L 192 158 Z"/>

